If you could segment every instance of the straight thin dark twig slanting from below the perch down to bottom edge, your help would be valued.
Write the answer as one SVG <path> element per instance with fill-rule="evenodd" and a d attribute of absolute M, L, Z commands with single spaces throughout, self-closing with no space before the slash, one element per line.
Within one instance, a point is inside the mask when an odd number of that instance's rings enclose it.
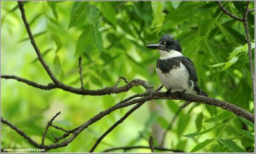
<path fill-rule="evenodd" d="M 140 108 L 140 106 L 142 106 L 144 104 L 145 101 L 140 102 L 138 104 L 136 104 L 136 106 L 134 106 L 133 108 L 131 108 L 127 113 L 125 113 L 125 115 L 120 118 L 120 120 L 118 120 L 114 125 L 112 125 L 108 130 L 106 130 L 106 132 L 104 132 L 104 134 L 102 134 L 102 136 L 100 136 L 96 143 L 93 145 L 93 147 L 91 148 L 90 152 L 93 152 L 95 150 L 95 148 L 99 145 L 100 141 L 102 141 L 102 139 L 104 139 L 105 136 L 107 136 L 109 134 L 109 132 L 111 132 L 113 129 L 115 129 L 116 126 L 118 126 L 120 123 L 124 122 L 124 120 L 132 114 L 133 111 L 135 111 L 136 109 Z"/>

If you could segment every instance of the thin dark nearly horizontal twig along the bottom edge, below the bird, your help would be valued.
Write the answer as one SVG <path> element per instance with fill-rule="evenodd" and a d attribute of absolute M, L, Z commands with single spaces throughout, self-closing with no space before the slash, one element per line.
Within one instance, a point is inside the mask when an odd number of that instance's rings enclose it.
<path fill-rule="evenodd" d="M 110 148 L 108 150 L 102 151 L 102 153 L 106 153 L 109 151 L 114 151 L 114 150 L 132 150 L 132 149 L 150 149 L 148 146 L 124 146 L 124 147 L 118 147 L 118 148 Z M 185 151 L 182 150 L 173 150 L 173 149 L 166 149 L 166 148 L 161 148 L 154 146 L 155 150 L 161 150 L 161 151 L 173 151 L 175 153 L 184 153 Z"/>

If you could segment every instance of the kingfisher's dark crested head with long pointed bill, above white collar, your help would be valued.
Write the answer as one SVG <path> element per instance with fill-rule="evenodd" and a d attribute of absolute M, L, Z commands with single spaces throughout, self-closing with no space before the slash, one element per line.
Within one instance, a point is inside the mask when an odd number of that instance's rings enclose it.
<path fill-rule="evenodd" d="M 181 47 L 179 41 L 173 39 L 170 34 L 164 34 L 157 44 L 147 45 L 147 48 L 170 52 L 172 50 L 181 53 Z"/>

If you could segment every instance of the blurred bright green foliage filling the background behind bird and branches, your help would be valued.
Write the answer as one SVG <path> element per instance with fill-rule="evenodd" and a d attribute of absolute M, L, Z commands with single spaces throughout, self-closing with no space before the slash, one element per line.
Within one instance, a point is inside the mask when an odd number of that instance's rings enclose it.
<path fill-rule="evenodd" d="M 222 4 L 242 17 L 246 2 Z M 251 2 L 249 8 L 253 7 Z M 41 1 L 26 2 L 24 8 L 44 59 L 54 75 L 67 85 L 80 87 L 81 56 L 85 88 L 113 86 L 118 76 L 129 81 L 140 78 L 159 87 L 155 71 L 159 55 L 145 45 L 156 43 L 162 34 L 170 32 L 179 39 L 182 53 L 194 62 L 199 85 L 205 92 L 253 112 L 243 23 L 223 14 L 215 2 Z M 17 2 L 1 1 L 1 12 L 1 73 L 44 85 L 50 83 L 28 39 Z M 255 37 L 254 16 L 254 12 L 248 15 L 251 38 Z M 253 61 L 254 54 L 253 49 Z M 1 80 L 1 90 L 1 115 L 38 143 L 47 121 L 58 111 L 61 115 L 54 123 L 73 129 L 125 97 L 143 92 L 143 88 L 134 87 L 124 94 L 81 96 L 58 89 L 44 91 L 15 80 Z M 152 112 L 148 109 L 152 103 L 161 109 Z M 166 129 L 181 103 L 158 100 L 144 104 L 104 138 L 96 151 L 148 146 L 147 139 L 154 133 L 151 127 L 159 125 Z M 88 152 L 96 139 L 129 108 L 111 113 L 84 130 L 67 147 L 49 152 Z M 6 125 L 1 128 L 2 148 L 33 148 Z M 50 132 L 55 136 L 63 133 L 51 128 L 45 144 L 53 143 Z M 156 146 L 160 143 L 154 141 Z M 254 124 L 214 106 L 193 104 L 181 111 L 168 131 L 164 147 L 187 152 L 252 152 Z"/>

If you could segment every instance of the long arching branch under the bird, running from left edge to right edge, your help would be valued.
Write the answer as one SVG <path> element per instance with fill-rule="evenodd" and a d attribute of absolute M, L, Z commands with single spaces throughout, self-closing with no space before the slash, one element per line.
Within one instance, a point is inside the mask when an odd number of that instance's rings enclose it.
<path fill-rule="evenodd" d="M 202 102 L 204 104 L 217 106 L 217 107 L 226 109 L 227 111 L 231 111 L 232 113 L 235 113 L 238 116 L 243 116 L 244 118 L 250 120 L 253 123 L 254 123 L 254 119 L 255 119 L 255 117 L 252 113 L 249 113 L 248 111 L 245 111 L 244 109 L 241 109 L 241 108 L 239 108 L 239 107 L 237 107 L 233 104 L 230 104 L 228 102 L 220 101 L 218 99 L 214 99 L 214 98 L 211 98 L 211 97 L 205 97 L 205 96 L 201 96 L 201 95 L 192 95 L 192 94 L 186 94 L 186 93 L 180 94 L 180 92 L 173 92 L 173 93 L 170 93 L 168 95 L 166 95 L 165 92 L 152 92 L 150 95 L 141 97 L 139 99 L 132 99 L 131 101 L 127 101 L 127 102 L 124 102 L 122 104 L 117 104 L 115 106 L 112 106 L 109 109 L 101 111 L 99 114 L 93 116 L 90 120 L 83 123 L 81 126 L 77 127 L 76 129 L 73 129 L 72 131 L 70 130 L 70 132 L 74 132 L 72 134 L 72 136 L 70 136 L 67 140 L 65 140 L 61 143 L 55 143 L 55 144 L 50 144 L 50 145 L 43 145 L 43 144 L 35 143 L 35 141 L 33 141 L 30 137 L 28 137 L 24 132 L 19 130 L 17 127 L 12 125 L 12 123 L 9 123 L 6 120 L 3 120 L 3 118 L 2 118 L 2 123 L 6 123 L 7 125 L 9 125 L 13 130 L 18 132 L 20 134 L 20 136 L 23 136 L 25 139 L 27 139 L 29 141 L 29 143 L 33 144 L 34 146 L 36 146 L 38 148 L 44 148 L 45 150 L 50 150 L 50 149 L 53 149 L 53 148 L 60 148 L 60 147 L 63 147 L 63 146 L 67 146 L 84 129 L 86 129 L 88 126 L 92 125 L 92 123 L 97 122 L 102 117 L 104 117 L 106 115 L 109 115 L 109 113 L 111 113 L 112 111 L 115 111 L 116 109 L 124 108 L 124 107 L 127 107 L 127 106 L 131 106 L 132 104 L 136 104 L 136 106 L 134 106 L 134 108 L 132 108 L 130 111 L 128 111 L 125 114 L 125 116 L 123 116 L 120 120 L 118 120 L 118 122 L 116 122 L 109 129 L 109 130 L 113 130 L 119 123 L 122 123 L 125 120 L 125 118 L 127 118 L 127 116 L 131 115 L 131 113 L 133 112 L 133 109 L 135 110 L 136 108 L 139 108 L 144 102 L 147 102 L 147 101 L 150 101 L 150 100 L 153 100 L 153 99 L 173 99 L 173 100 L 182 99 L 182 100 L 191 101 L 191 102 Z M 106 134 L 108 134 L 108 133 L 109 133 L 109 131 L 104 133 L 102 135 L 102 137 L 99 138 L 99 141 L 101 141 L 101 139 L 103 139 L 104 136 L 106 136 Z M 97 142 L 97 144 L 99 144 L 99 141 Z"/>

